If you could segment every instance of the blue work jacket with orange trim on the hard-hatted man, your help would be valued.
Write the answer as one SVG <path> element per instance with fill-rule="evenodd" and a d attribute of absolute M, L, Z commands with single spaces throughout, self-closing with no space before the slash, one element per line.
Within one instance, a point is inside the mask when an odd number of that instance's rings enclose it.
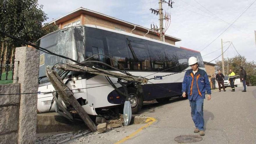
<path fill-rule="evenodd" d="M 196 88 L 193 88 L 193 83 L 195 83 L 194 77 L 196 77 Z M 187 70 L 182 82 L 182 93 L 186 92 L 188 94 L 188 99 L 191 100 L 193 93 L 198 93 L 200 98 L 205 98 L 205 90 L 207 90 L 208 94 L 211 94 L 211 86 L 207 73 L 198 68 L 198 71 L 194 75 L 192 69 Z"/>

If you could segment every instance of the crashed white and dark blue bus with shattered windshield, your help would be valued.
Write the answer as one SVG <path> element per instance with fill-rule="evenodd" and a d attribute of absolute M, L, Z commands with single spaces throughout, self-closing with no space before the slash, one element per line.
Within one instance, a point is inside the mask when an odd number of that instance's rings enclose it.
<path fill-rule="evenodd" d="M 78 62 L 95 54 L 102 54 L 90 60 L 106 63 L 134 76 L 147 79 L 154 77 L 147 84 L 128 86 L 132 113 L 141 109 L 143 101 L 157 99 L 158 102 L 164 102 L 170 97 L 181 96 L 184 70 L 190 69 L 189 57 L 198 58 L 199 67 L 204 69 L 203 60 L 198 51 L 95 25 L 73 26 L 49 33 L 38 40 L 38 45 Z M 38 88 L 38 112 L 40 113 L 55 111 L 55 102 L 50 109 L 52 94 L 42 92 L 54 91 L 45 70 L 47 65 L 53 66 L 56 63 L 74 62 L 40 51 Z M 104 66 L 102 69 L 118 72 Z M 172 73 L 177 74 L 162 77 Z M 122 90 L 122 86 L 116 83 L 116 78 L 86 72 L 69 72 L 63 77 L 65 77 L 64 83 L 71 90 L 73 89 L 74 97 L 90 115 L 97 115 L 98 110 L 119 106 L 125 102 L 125 96 L 115 89 Z M 116 84 L 104 86 L 111 81 Z M 102 87 L 90 88 L 95 86 Z"/>

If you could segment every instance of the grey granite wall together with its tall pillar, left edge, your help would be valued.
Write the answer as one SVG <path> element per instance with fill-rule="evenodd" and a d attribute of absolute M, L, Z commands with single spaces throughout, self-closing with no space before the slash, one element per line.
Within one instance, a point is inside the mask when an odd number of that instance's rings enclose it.
<path fill-rule="evenodd" d="M 36 134 L 39 51 L 17 47 L 15 57 L 18 81 L 0 85 L 0 94 L 8 94 L 0 95 L 0 143 L 31 144 Z"/>

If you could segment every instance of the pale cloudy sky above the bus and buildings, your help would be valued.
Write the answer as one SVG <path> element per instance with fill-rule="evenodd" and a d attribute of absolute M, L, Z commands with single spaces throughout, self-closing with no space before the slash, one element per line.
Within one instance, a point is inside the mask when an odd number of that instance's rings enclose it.
<path fill-rule="evenodd" d="M 200 51 L 203 60 L 207 62 L 221 55 L 221 39 L 224 42 L 223 51 L 232 42 L 241 56 L 245 56 L 248 61 L 256 61 L 254 1 L 174 0 L 173 8 L 163 3 L 163 12 L 171 15 L 166 34 L 182 40 L 175 45 Z M 248 8 L 251 3 L 253 4 Z M 38 0 L 38 4 L 44 6 L 43 11 L 49 17 L 46 22 L 83 7 L 147 28 L 153 23 L 159 25 L 159 16 L 149 10 L 158 9 L 158 0 Z M 216 52 L 211 53 L 213 51 Z M 224 58 L 236 55 L 237 52 L 231 45 L 224 53 Z M 221 56 L 216 60 L 221 60 Z"/>

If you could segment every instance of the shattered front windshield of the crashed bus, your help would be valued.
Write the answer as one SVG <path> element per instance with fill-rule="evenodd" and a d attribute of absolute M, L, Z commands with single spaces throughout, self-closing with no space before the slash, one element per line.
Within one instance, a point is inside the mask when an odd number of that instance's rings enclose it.
<path fill-rule="evenodd" d="M 74 34 L 75 33 L 75 34 Z M 84 28 L 70 27 L 50 33 L 38 40 L 38 45 L 55 54 L 72 58 L 76 61 L 84 60 Z M 47 54 L 40 51 L 40 66 L 39 66 L 39 83 L 48 81 L 46 76 L 46 66 L 53 66 L 56 63 L 74 63 L 65 58 Z"/>

